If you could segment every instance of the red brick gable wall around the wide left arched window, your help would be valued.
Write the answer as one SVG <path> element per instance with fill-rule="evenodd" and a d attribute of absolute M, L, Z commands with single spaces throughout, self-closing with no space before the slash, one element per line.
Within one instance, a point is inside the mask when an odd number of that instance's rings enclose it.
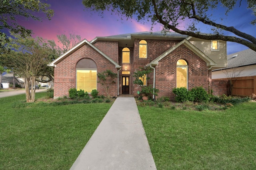
<path fill-rule="evenodd" d="M 118 51 L 118 45 L 113 45 L 113 54 L 108 53 L 109 56 L 115 56 Z M 115 47 L 115 48 L 114 48 Z M 116 51 L 114 50 L 116 49 Z M 90 47 L 88 44 L 80 47 L 71 55 L 60 61 L 54 68 L 54 98 L 69 96 L 68 90 L 76 88 L 76 63 L 83 58 L 92 59 L 97 65 L 97 72 L 105 71 L 106 69 L 112 70 L 117 73 L 115 65 L 108 59 L 103 57 L 98 51 Z M 110 96 L 117 96 L 117 78 L 115 83 L 109 84 L 108 93 Z M 105 88 L 97 83 L 97 90 L 99 94 L 106 96 Z"/>

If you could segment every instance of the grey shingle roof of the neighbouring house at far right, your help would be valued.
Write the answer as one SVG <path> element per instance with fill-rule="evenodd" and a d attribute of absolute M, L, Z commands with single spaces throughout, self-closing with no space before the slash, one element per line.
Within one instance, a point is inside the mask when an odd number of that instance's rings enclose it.
<path fill-rule="evenodd" d="M 256 64 L 256 52 L 246 49 L 227 56 L 227 68 Z"/>

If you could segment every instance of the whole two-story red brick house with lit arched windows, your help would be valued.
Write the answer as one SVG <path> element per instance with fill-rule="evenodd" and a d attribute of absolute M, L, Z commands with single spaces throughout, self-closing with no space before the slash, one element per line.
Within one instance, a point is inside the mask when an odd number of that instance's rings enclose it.
<path fill-rule="evenodd" d="M 68 96 L 70 88 L 106 95 L 97 73 L 107 69 L 118 74 L 108 81 L 110 96 L 136 96 L 141 86 L 133 83 L 133 73 L 144 67 L 152 69 L 144 85 L 159 89 L 158 97 L 174 100 L 173 88 L 211 87 L 212 69 L 226 67 L 226 41 L 160 31 L 96 37 L 84 39 L 49 65 L 55 67 L 54 98 Z"/>

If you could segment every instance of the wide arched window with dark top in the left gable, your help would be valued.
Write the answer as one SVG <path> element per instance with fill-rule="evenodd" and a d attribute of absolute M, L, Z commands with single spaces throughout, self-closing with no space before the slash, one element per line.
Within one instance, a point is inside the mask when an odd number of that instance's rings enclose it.
<path fill-rule="evenodd" d="M 97 66 L 92 59 L 81 59 L 76 64 L 76 89 L 88 93 L 97 89 Z"/>

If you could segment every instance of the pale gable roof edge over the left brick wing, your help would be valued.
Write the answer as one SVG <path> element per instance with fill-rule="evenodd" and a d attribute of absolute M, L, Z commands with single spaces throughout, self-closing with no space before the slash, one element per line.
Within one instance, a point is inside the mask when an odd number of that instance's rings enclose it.
<path fill-rule="evenodd" d="M 68 57 L 68 55 L 72 54 L 74 51 L 76 51 L 77 49 L 79 49 L 80 47 L 82 47 L 84 44 L 88 44 L 90 45 L 93 49 L 95 49 L 96 51 L 98 51 L 98 53 L 100 53 L 103 57 L 105 57 L 106 59 L 108 59 L 111 63 L 113 63 L 116 68 L 120 68 L 121 66 L 116 63 L 114 60 L 112 60 L 110 57 L 108 57 L 106 54 L 104 54 L 102 51 L 100 51 L 97 47 L 95 47 L 94 45 L 92 45 L 92 43 L 90 43 L 89 41 L 87 41 L 86 39 L 84 39 L 83 41 L 81 41 L 80 43 L 78 43 L 77 45 L 75 45 L 73 48 L 71 48 L 70 50 L 68 50 L 66 53 L 64 53 L 63 55 L 61 55 L 60 57 L 58 57 L 57 59 L 55 59 L 54 61 L 52 61 L 50 64 L 48 64 L 48 66 L 54 66 L 56 67 L 56 64 L 60 63 L 60 61 L 62 61 L 63 59 L 65 59 L 66 57 Z"/>

